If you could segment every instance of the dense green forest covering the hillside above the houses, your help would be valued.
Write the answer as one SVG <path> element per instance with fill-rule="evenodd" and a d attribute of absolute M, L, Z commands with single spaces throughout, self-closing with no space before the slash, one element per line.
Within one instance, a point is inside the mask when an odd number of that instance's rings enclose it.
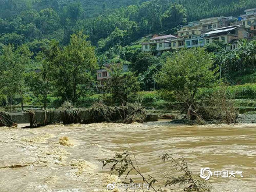
<path fill-rule="evenodd" d="M 212 16 L 238 16 L 256 6 L 253 0 L 1 0 L 0 44 L 58 40 L 66 45 L 70 34 L 83 30 L 99 51 L 129 45 L 145 35 L 172 30 L 180 24 Z M 176 4 L 175 4 L 176 3 Z M 36 49 L 30 48 L 37 52 Z"/>

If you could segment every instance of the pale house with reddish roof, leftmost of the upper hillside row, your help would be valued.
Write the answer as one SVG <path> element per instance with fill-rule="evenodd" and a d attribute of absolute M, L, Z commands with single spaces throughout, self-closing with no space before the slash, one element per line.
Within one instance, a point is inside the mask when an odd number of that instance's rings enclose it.
<path fill-rule="evenodd" d="M 171 49 L 171 41 L 177 39 L 174 35 L 157 35 L 155 34 L 153 38 L 148 42 L 143 42 L 142 49 L 146 52 L 156 52 L 161 53 L 162 51 L 167 51 Z"/>

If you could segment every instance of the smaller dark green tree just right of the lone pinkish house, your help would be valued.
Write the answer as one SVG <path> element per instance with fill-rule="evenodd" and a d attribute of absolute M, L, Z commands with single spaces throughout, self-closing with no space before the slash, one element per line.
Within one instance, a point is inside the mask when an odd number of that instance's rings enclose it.
<path fill-rule="evenodd" d="M 133 100 L 140 90 L 140 85 L 134 73 L 124 72 L 122 64 L 113 65 L 109 72 L 111 73 L 111 79 L 105 82 L 104 87 L 106 91 L 112 94 L 113 101 L 116 104 L 125 105 Z"/>

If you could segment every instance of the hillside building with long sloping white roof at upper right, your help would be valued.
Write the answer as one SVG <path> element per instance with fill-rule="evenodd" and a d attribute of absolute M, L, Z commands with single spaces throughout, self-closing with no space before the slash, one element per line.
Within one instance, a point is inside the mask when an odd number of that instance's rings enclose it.
<path fill-rule="evenodd" d="M 230 43 L 233 44 L 235 42 L 234 40 L 241 40 L 246 38 L 247 31 L 243 26 L 239 25 L 222 27 L 209 31 L 208 33 L 204 33 L 203 35 L 205 39 L 205 45 L 213 42 L 214 40 L 223 41 L 224 44 L 229 45 Z M 237 44 L 234 48 L 237 48 Z"/>

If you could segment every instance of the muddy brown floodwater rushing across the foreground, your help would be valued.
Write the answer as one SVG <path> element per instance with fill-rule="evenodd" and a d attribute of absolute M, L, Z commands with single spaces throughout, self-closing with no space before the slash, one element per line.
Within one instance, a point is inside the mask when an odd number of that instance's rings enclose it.
<path fill-rule="evenodd" d="M 167 152 L 182 155 L 197 174 L 205 167 L 243 171 L 243 177 L 213 175 L 214 191 L 256 191 L 256 125 L 166 122 L 0 127 L 0 191 L 108 191 L 118 177 L 102 171 L 98 159 L 129 150 L 127 143 L 145 174 L 160 178 L 169 164 L 159 156 Z"/>

